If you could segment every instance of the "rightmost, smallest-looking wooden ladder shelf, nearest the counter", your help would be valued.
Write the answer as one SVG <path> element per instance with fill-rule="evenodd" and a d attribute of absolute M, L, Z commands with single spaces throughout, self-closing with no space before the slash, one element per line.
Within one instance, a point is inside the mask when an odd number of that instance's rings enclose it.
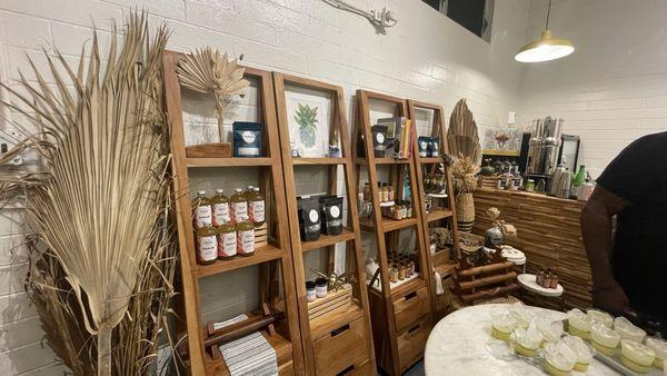
<path fill-rule="evenodd" d="M 445 132 L 445 116 L 442 112 L 442 107 L 438 106 L 438 105 L 431 105 L 431 103 L 425 103 L 425 102 L 419 102 L 419 101 L 415 101 L 415 100 L 408 100 L 408 111 L 410 113 L 410 118 L 411 119 L 416 119 L 416 111 L 418 109 L 424 109 L 424 110 L 428 110 L 428 111 L 432 111 L 432 120 L 434 122 L 431 123 L 431 137 L 439 137 L 440 138 L 440 156 L 445 156 L 447 154 L 449 154 L 449 147 L 447 144 L 447 133 Z M 418 192 L 419 192 L 419 199 L 421 200 L 421 208 L 422 212 L 425 214 L 424 216 L 421 216 L 421 220 L 422 220 L 422 226 L 425 231 L 422 232 L 425 239 L 424 241 L 427 245 L 430 245 L 430 236 L 431 236 L 431 228 L 440 225 L 440 226 L 446 226 L 449 227 L 449 229 L 451 230 L 451 238 L 452 238 L 452 249 L 450 249 L 450 255 L 447 255 L 447 253 L 445 251 L 439 251 L 436 253 L 435 255 L 431 255 L 430 251 L 428 253 L 428 265 L 429 265 L 429 270 L 435 270 L 438 271 L 438 274 L 440 275 L 440 278 L 445 279 L 445 280 L 450 280 L 448 279 L 448 277 L 450 277 L 451 273 L 455 269 L 456 266 L 456 260 L 458 259 L 460 249 L 459 249 L 459 238 L 458 238 L 458 229 L 457 229 L 457 225 L 456 225 L 456 204 L 455 204 L 455 196 L 454 196 L 454 186 L 452 186 L 452 177 L 451 177 L 451 169 L 450 167 L 445 162 L 445 158 L 444 157 L 419 157 L 418 152 L 414 154 L 415 156 L 415 162 L 417 165 L 417 180 L 418 180 Z M 445 166 L 445 175 L 447 178 L 447 198 L 446 199 L 439 199 L 438 201 L 445 201 L 446 206 L 445 207 L 438 207 L 438 208 L 434 208 L 434 210 L 431 212 L 426 214 L 426 205 L 424 202 L 424 199 L 426 198 L 426 194 L 425 194 L 425 186 L 424 186 L 424 174 L 430 174 L 431 171 L 434 171 L 435 167 L 437 164 L 444 164 Z M 432 298 L 434 298 L 434 307 L 436 307 L 436 316 L 437 317 L 441 317 L 446 314 L 446 309 L 449 306 L 449 290 L 447 287 L 447 283 L 444 281 L 444 288 L 445 288 L 445 293 L 440 296 L 438 296 L 436 294 L 436 288 L 435 288 L 435 275 L 434 278 L 431 278 L 432 280 Z"/>

